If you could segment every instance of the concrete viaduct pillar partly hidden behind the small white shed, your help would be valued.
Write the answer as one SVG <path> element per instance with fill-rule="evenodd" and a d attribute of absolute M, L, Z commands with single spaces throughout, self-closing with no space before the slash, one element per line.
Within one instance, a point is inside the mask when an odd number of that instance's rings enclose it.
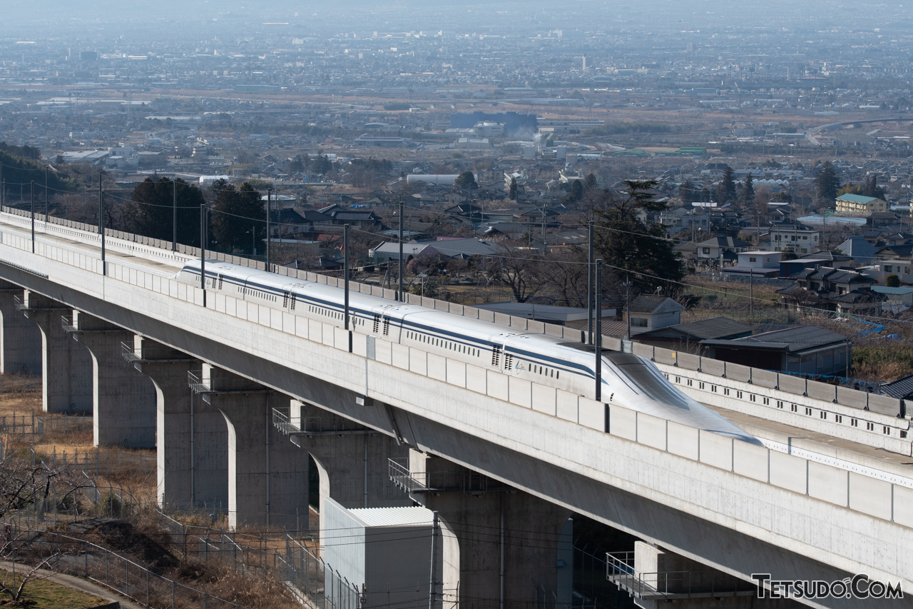
<path fill-rule="evenodd" d="M 407 446 L 383 433 L 298 400 L 290 401 L 291 436 L 314 459 L 320 475 L 320 514 L 327 497 L 343 508 L 403 508 L 413 505 L 390 480 L 389 460 L 408 457 Z M 320 530 L 323 530 L 320 518 Z M 322 539 L 322 538 L 321 538 Z"/>

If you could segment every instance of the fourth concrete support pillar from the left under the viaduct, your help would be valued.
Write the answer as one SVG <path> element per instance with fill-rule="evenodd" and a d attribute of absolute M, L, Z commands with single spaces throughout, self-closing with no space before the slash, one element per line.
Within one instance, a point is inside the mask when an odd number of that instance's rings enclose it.
<path fill-rule="evenodd" d="M 227 508 L 225 419 L 200 398 L 194 403 L 187 386 L 187 373 L 200 368 L 199 360 L 139 335 L 131 347 L 124 349 L 124 359 L 152 379 L 155 388 L 159 505 Z"/>

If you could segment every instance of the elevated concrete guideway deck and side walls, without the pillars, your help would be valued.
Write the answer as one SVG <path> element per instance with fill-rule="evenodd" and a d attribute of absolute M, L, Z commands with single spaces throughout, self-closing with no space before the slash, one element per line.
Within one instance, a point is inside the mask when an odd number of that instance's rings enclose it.
<path fill-rule="evenodd" d="M 217 291 L 205 294 L 170 279 L 184 261 L 199 256 L 184 246 L 172 251 L 169 243 L 111 234 L 102 262 L 100 236 L 92 227 L 36 221 L 32 240 L 31 226 L 30 218 L 0 213 L 0 277 L 205 366 L 745 580 L 752 572 L 825 581 L 866 572 L 913 590 L 908 551 L 913 484 L 906 470 L 893 464 L 881 468 L 887 478 L 879 475 L 876 459 L 866 462 L 868 469 L 852 471 L 825 463 L 824 457 L 837 458 L 829 454 L 788 454 L 770 438 L 765 446 L 734 441 L 404 347 L 370 328 L 349 333 L 307 311 L 292 313 Z M 336 283 L 310 273 L 275 271 Z M 357 283 L 351 289 L 378 290 Z M 422 304 L 482 315 L 440 301 Z M 579 332 L 525 319 L 494 316 L 491 321 L 580 339 Z M 670 380 L 711 406 L 718 406 L 711 400 L 716 395 L 729 398 L 720 398 L 721 403 L 746 416 L 805 430 L 810 422 L 827 422 L 816 433 L 829 434 L 831 424 L 845 425 L 846 441 L 909 454 L 908 419 L 897 416 L 899 402 L 864 398 L 865 410 L 844 403 L 861 399 L 839 390 L 832 389 L 838 401 L 828 402 L 814 390 L 803 396 L 767 387 L 769 379 L 755 371 L 746 377 L 729 369 L 715 376 L 706 361 L 692 368 L 681 355 L 672 364 L 661 361 L 663 354 L 652 356 Z M 752 404 L 758 410 L 750 411 Z M 793 411 L 793 405 L 817 410 L 809 415 Z M 892 416 L 887 411 L 894 406 Z M 853 414 L 857 425 L 838 422 L 835 414 Z M 808 604 L 871 606 L 852 599 Z"/>

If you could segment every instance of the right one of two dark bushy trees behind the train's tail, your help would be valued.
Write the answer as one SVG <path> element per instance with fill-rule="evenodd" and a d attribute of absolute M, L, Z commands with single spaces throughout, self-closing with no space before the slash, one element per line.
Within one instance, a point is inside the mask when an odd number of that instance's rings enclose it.
<path fill-rule="evenodd" d="M 251 240 L 260 243 L 266 238 L 266 207 L 256 188 L 247 182 L 236 188 L 219 180 L 213 191 L 215 202 L 210 215 L 213 249 L 244 251 Z"/>

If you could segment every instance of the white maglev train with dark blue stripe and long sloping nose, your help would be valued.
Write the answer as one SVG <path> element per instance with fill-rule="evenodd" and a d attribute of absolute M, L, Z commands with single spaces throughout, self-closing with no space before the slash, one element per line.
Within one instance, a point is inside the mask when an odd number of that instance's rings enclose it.
<path fill-rule="evenodd" d="M 206 261 L 206 290 L 344 326 L 343 289 L 227 262 Z M 200 285 L 200 262 L 173 277 Z M 593 347 L 479 319 L 350 291 L 350 328 L 429 353 L 497 370 L 595 399 Z M 759 443 L 717 412 L 687 397 L 650 360 L 603 351 L 602 400 L 708 432 Z"/>

